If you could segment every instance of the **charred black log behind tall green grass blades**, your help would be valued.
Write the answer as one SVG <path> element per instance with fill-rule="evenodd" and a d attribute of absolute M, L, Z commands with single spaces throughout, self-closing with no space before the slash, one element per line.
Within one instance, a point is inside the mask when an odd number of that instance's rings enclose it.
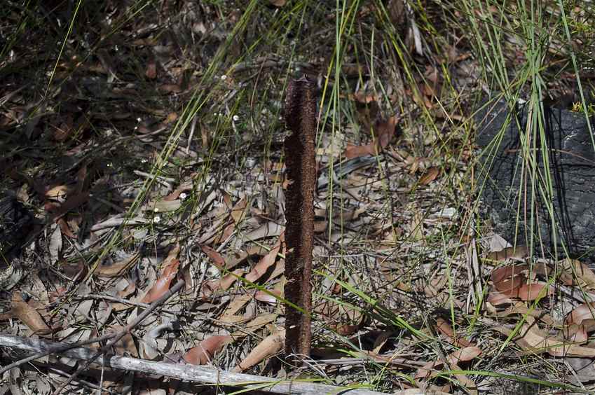
<path fill-rule="evenodd" d="M 528 106 L 518 104 L 511 110 L 505 102 L 492 101 L 476 116 L 476 141 L 481 148 L 476 169 L 478 184 L 483 186 L 483 207 L 487 208 L 495 230 L 511 243 L 529 245 L 533 237 L 535 251 L 540 251 L 539 240 L 542 240 L 546 253 L 553 254 L 556 245 L 559 256 L 564 256 L 563 242 L 570 256 L 581 258 L 586 255 L 588 258 L 589 252 L 595 248 L 595 151 L 587 121 L 582 113 L 548 106 L 543 108 L 545 140 L 534 132 L 535 148 L 538 149 L 531 152 L 537 159 L 536 168 L 541 180 L 548 172 L 546 158 L 549 162 L 551 199 L 545 198 L 539 188 L 532 195 L 531 179 L 521 176 L 521 138 L 528 123 Z M 595 127 L 592 119 L 591 126 Z M 540 149 L 542 142 L 547 144 L 545 151 Z M 538 182 L 544 185 L 542 181 Z M 533 197 L 538 224 L 536 221 L 525 223 L 525 218 L 531 218 Z M 550 203 L 556 220 L 554 224 L 547 211 Z"/>

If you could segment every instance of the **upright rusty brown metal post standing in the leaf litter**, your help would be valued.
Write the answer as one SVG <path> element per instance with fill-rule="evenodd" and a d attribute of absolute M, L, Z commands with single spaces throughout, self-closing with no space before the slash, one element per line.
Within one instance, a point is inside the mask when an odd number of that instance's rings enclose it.
<path fill-rule="evenodd" d="M 310 355 L 312 311 L 312 249 L 316 185 L 316 99 L 308 78 L 293 80 L 287 88 L 285 123 L 292 134 L 285 139 L 287 202 L 285 210 L 285 353 Z M 298 307 L 298 308 L 296 308 Z"/>

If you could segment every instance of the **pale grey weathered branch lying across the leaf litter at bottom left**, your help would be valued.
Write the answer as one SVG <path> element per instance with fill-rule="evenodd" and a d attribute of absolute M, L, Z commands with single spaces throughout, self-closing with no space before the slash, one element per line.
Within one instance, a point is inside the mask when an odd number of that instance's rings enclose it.
<path fill-rule="evenodd" d="M 37 354 L 45 353 L 49 349 L 64 349 L 60 354 L 82 361 L 95 359 L 97 351 L 87 347 L 76 347 L 67 349 L 66 343 L 50 342 L 41 339 L 22 338 L 13 335 L 0 335 L 0 347 L 20 349 Z M 242 373 L 231 373 L 225 370 L 217 370 L 213 367 L 195 366 L 189 364 L 165 363 L 146 361 L 144 359 L 129 358 L 106 354 L 93 361 L 93 364 L 101 367 L 109 367 L 118 370 L 129 370 L 145 373 L 147 375 L 163 375 L 177 380 L 187 382 L 200 382 L 214 385 L 228 385 L 242 387 L 245 389 L 259 389 L 261 391 L 273 392 L 275 394 L 348 394 L 348 395 L 381 395 L 381 392 L 369 391 L 367 389 L 345 389 L 327 384 L 315 382 L 301 382 L 292 380 L 275 380 L 271 377 L 257 375 L 245 375 Z M 422 395 L 423 391 L 408 390 L 397 391 L 397 395 Z"/>

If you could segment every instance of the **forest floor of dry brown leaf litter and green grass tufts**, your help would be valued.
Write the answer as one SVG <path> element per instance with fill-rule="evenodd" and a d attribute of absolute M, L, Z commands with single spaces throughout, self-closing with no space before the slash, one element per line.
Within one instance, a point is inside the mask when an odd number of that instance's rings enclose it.
<path fill-rule="evenodd" d="M 593 11 L 447 3 L 8 0 L 0 192 L 35 230 L 0 332 L 74 343 L 130 325 L 109 351 L 337 391 L 594 392 L 595 274 L 491 233 L 473 118 L 498 92 L 588 110 L 573 95 Z M 295 366 L 283 103 L 303 75 L 318 173 L 313 348 Z M 0 345 L 4 367 L 25 357 Z M 238 391 L 104 366 L 68 381 L 76 366 L 0 368 L 0 393 Z"/>

